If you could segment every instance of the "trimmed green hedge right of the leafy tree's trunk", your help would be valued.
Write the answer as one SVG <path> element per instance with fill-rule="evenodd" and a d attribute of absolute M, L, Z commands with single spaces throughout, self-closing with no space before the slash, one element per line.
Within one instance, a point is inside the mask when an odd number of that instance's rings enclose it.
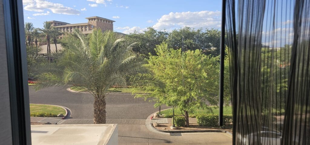
<path fill-rule="evenodd" d="M 209 126 L 209 127 L 219 127 L 218 115 L 197 115 L 197 124 L 201 126 Z M 223 116 L 223 126 L 221 128 L 231 129 L 232 128 L 232 115 L 224 115 Z"/>

